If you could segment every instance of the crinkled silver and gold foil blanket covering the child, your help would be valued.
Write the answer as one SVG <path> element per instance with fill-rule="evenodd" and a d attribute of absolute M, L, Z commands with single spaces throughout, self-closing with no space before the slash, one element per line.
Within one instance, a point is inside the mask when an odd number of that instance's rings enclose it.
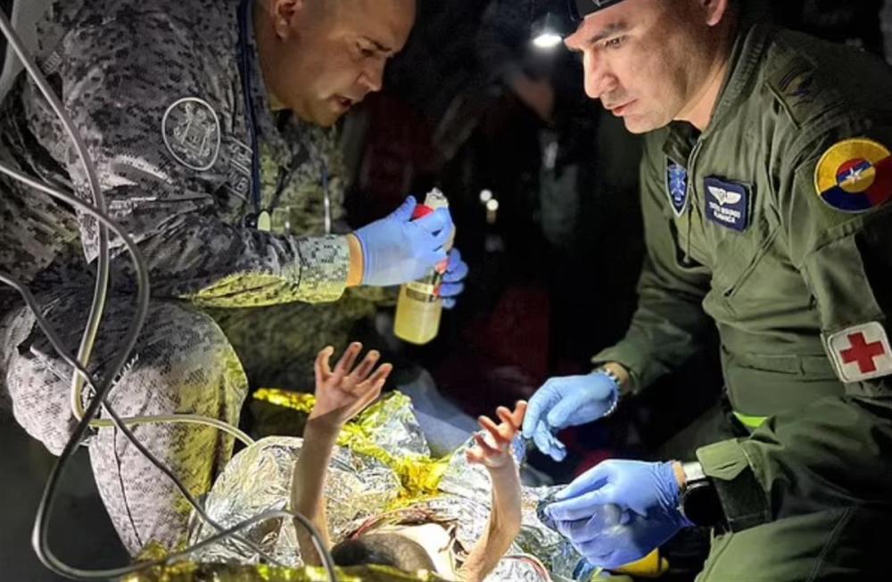
<path fill-rule="evenodd" d="M 268 391 L 266 398 L 299 410 L 312 407 L 312 397 L 306 395 Z M 338 439 L 326 489 L 326 512 L 334 544 L 370 521 L 400 521 L 418 513 L 454 524 L 458 542 L 467 550 L 483 535 L 490 514 L 491 484 L 483 467 L 466 461 L 465 452 L 473 441 L 469 439 L 444 459 L 430 459 L 410 406 L 409 398 L 394 393 L 345 427 Z M 205 508 L 211 519 L 231 527 L 261 512 L 285 509 L 301 445 L 301 439 L 268 438 L 235 455 L 207 496 Z M 520 439 L 512 452 L 519 463 L 525 454 Z M 555 490 L 524 488 L 521 533 L 488 581 L 547 580 L 548 573 L 540 563 L 558 577 L 572 578 L 581 560 L 579 554 L 536 516 L 539 502 Z M 214 533 L 198 521 L 193 523 L 192 543 Z M 279 562 L 301 565 L 291 520 L 260 524 L 246 530 L 244 536 Z M 259 562 L 256 553 L 232 540 L 204 548 L 194 554 L 194 559 Z"/>

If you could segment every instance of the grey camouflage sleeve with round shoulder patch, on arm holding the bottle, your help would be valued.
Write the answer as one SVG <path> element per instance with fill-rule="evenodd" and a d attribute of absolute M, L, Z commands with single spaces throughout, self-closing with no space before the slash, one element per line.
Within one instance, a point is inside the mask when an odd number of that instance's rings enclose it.
<path fill-rule="evenodd" d="M 226 222 L 241 204 L 227 192 L 227 135 L 235 115 L 244 113 L 236 107 L 239 84 L 218 59 L 220 47 L 200 45 L 194 31 L 156 13 L 96 21 L 103 24 L 64 37 L 59 52 L 65 57 L 53 78 L 86 137 L 111 216 L 145 257 L 153 295 L 219 307 L 339 297 L 349 267 L 343 237 L 301 239 Z M 187 166 L 165 141 L 172 131 L 164 127 L 165 113 L 180 99 L 201 100 L 216 116 L 223 143 L 210 168 Z M 75 192 L 91 200 L 76 152 L 67 140 L 67 147 L 57 144 L 62 134 L 52 114 L 37 113 L 38 139 L 67 169 Z M 211 127 L 212 149 L 212 126 L 204 123 L 198 129 Z M 87 259 L 95 260 L 95 222 L 79 218 Z M 132 269 L 120 241 L 112 239 L 112 255 L 116 270 Z"/>

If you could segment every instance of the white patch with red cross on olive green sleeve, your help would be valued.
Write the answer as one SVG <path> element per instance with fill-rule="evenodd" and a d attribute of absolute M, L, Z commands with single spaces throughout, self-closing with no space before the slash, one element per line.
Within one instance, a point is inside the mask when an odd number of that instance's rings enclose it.
<path fill-rule="evenodd" d="M 855 325 L 826 337 L 839 380 L 860 382 L 892 374 L 892 348 L 882 324 Z"/>

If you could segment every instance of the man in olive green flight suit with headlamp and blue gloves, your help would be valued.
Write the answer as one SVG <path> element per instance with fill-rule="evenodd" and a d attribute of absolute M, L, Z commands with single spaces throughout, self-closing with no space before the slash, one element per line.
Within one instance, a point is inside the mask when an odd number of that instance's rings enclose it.
<path fill-rule="evenodd" d="M 542 387 L 524 435 L 561 458 L 554 431 L 673 372 L 712 324 L 752 432 L 689 463 L 600 463 L 549 516 L 608 568 L 710 525 L 701 580 L 888 576 L 892 74 L 742 2 L 573 4 L 587 93 L 650 132 L 648 256 L 624 340 Z"/>

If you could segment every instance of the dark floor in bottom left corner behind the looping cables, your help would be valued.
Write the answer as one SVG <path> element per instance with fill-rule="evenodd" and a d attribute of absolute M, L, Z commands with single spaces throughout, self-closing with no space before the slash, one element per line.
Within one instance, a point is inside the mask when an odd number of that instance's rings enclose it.
<path fill-rule="evenodd" d="M 24 430 L 0 416 L 0 579 L 16 582 L 63 580 L 46 570 L 31 548 L 37 504 L 55 457 Z M 87 451 L 64 474 L 50 535 L 54 554 L 71 566 L 120 566 L 128 557 L 96 492 Z"/>

